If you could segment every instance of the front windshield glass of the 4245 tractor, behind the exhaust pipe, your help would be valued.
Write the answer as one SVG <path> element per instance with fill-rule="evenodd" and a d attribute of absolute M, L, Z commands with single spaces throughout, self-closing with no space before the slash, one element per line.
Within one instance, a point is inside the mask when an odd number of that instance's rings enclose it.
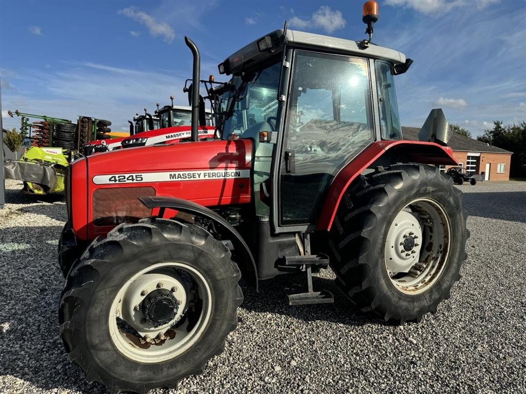
<path fill-rule="evenodd" d="M 276 99 L 280 74 L 279 60 L 255 72 L 242 81 L 232 78 L 234 88 L 229 92 L 228 101 L 221 101 L 226 109 L 226 119 L 221 137 L 223 139 L 255 138 L 260 129 L 274 131 L 278 100 Z M 247 79 L 247 77 L 245 77 Z M 226 104 L 226 105 L 225 105 Z"/>

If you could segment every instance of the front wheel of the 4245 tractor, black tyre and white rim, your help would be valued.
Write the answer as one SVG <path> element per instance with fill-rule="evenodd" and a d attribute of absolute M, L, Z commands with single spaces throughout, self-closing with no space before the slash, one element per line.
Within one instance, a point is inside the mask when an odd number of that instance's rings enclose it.
<path fill-rule="evenodd" d="M 59 324 L 69 359 L 116 392 L 173 388 L 224 350 L 240 276 L 228 248 L 199 226 L 119 225 L 67 278 Z"/>

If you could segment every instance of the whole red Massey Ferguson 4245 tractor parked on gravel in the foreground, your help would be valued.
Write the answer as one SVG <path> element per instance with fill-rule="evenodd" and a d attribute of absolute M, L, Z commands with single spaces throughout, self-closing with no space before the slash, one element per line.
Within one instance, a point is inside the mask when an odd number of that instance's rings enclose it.
<path fill-rule="evenodd" d="M 469 233 L 436 167 L 456 164 L 442 112 L 422 141 L 401 140 L 394 80 L 411 60 L 370 39 L 276 30 L 219 65 L 232 78 L 221 138 L 198 140 L 199 53 L 186 42 L 191 141 L 68 167 L 59 323 L 87 379 L 143 393 L 198 374 L 237 325 L 241 278 L 257 289 L 304 272 L 289 303 L 327 303 L 311 272 L 329 265 L 372 317 L 435 312 Z"/>

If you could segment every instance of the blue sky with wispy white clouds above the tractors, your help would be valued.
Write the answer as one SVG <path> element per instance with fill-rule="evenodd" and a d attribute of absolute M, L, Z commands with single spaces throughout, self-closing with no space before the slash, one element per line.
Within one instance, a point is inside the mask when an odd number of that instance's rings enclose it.
<path fill-rule="evenodd" d="M 201 77 L 252 40 L 289 27 L 361 40 L 358 1 L 0 0 L 0 72 L 8 109 L 113 121 L 187 100 L 188 35 Z M 526 1 L 380 0 L 373 42 L 414 60 L 396 78 L 401 122 L 420 127 L 431 108 L 474 135 L 493 120 L 526 120 Z"/>

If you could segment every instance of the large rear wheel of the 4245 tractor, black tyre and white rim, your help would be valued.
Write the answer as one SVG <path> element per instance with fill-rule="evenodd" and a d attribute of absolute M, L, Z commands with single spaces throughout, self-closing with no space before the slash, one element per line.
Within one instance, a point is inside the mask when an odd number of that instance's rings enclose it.
<path fill-rule="evenodd" d="M 346 192 L 329 234 L 336 282 L 362 312 L 403 324 L 449 298 L 466 259 L 466 213 L 451 177 L 397 164 Z"/>

